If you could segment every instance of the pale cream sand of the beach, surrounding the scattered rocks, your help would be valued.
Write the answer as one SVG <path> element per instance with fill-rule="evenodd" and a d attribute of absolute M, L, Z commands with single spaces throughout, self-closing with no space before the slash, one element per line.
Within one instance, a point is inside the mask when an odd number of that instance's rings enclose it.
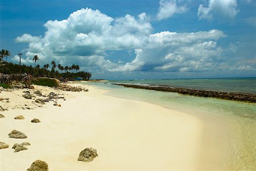
<path fill-rule="evenodd" d="M 199 119 L 88 88 L 89 92 L 59 91 L 67 97 L 67 101 L 58 100 L 61 107 L 49 102 L 35 108 L 34 100 L 20 97 L 23 93 L 19 91 L 0 93 L 0 97 L 10 97 L 10 103 L 0 102 L 2 107 L 9 106 L 8 111 L 0 112 L 6 117 L 0 118 L 0 142 L 10 146 L 0 149 L 0 170 L 26 170 L 38 159 L 46 161 L 52 171 L 198 170 L 197 151 L 203 131 Z M 37 89 L 52 91 L 40 86 Z M 35 109 L 11 109 L 22 108 L 24 103 Z M 20 114 L 25 119 L 15 120 Z M 31 123 L 33 118 L 41 122 Z M 28 138 L 9 138 L 14 129 Z M 11 147 L 22 142 L 31 146 L 15 153 Z M 77 161 L 80 151 L 87 147 L 96 148 L 98 157 L 90 163 Z"/>

